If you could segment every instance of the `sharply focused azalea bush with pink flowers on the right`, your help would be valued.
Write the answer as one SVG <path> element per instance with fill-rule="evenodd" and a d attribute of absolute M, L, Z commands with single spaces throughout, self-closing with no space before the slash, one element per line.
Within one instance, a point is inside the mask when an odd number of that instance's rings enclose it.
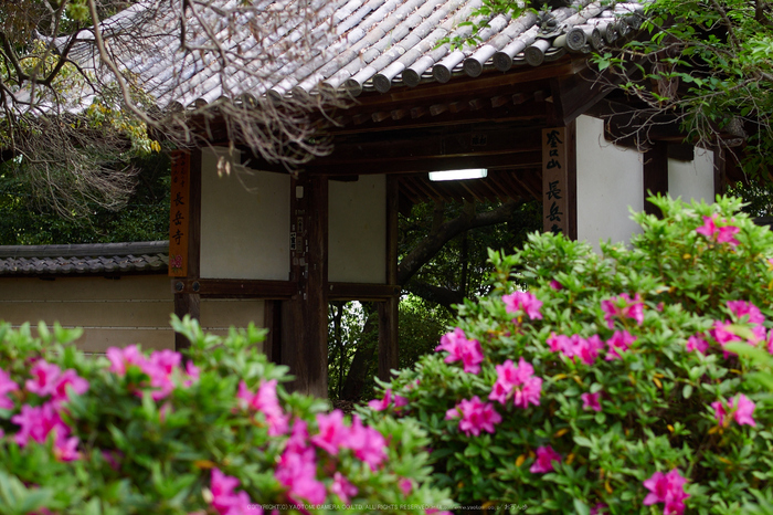
<path fill-rule="evenodd" d="M 491 252 L 493 293 L 465 302 L 436 353 L 363 416 L 417 421 L 435 485 L 467 506 L 770 506 L 770 390 L 733 348 L 773 353 L 773 234 L 737 199 L 650 200 L 664 217 L 634 214 L 631 248 L 532 234 L 515 255 Z"/>

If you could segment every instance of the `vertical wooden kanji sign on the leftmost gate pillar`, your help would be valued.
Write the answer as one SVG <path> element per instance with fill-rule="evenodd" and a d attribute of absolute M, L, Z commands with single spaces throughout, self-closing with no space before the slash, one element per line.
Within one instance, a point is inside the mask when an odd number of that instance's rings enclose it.
<path fill-rule="evenodd" d="M 169 275 L 188 275 L 188 228 L 191 156 L 184 150 L 172 154 L 171 209 L 169 210 Z"/>

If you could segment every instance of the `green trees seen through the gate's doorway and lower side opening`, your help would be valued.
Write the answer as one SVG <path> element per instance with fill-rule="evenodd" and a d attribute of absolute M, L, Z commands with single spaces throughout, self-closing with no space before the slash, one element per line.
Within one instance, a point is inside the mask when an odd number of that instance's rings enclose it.
<path fill-rule="evenodd" d="M 401 368 L 434 350 L 456 315 L 455 304 L 488 293 L 487 249 L 519 249 L 539 229 L 537 202 L 426 202 L 400 217 Z M 333 305 L 330 327 L 330 398 L 371 399 L 378 365 L 374 309 Z"/>

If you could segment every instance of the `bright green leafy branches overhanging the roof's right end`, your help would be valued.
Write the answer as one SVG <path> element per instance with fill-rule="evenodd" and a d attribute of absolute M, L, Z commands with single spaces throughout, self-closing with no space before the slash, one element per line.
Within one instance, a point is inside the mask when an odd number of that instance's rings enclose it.
<path fill-rule="evenodd" d="M 629 2 L 612 0 L 610 4 Z M 773 4 L 769 0 L 654 0 L 633 39 L 592 56 L 592 80 L 622 91 L 631 123 L 622 135 L 648 146 L 654 133 L 678 123 L 686 139 L 735 154 L 752 177 L 772 180 Z M 542 14 L 566 2 L 483 0 L 452 43 L 475 44 L 498 14 Z"/>

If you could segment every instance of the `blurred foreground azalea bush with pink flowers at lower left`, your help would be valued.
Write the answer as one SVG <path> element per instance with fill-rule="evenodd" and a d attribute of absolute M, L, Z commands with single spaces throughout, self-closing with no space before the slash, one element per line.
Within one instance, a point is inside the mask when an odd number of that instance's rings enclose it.
<path fill-rule="evenodd" d="M 287 393 L 263 332 L 92 358 L 55 326 L 0 324 L 0 514 L 433 513 L 417 424 Z"/>

